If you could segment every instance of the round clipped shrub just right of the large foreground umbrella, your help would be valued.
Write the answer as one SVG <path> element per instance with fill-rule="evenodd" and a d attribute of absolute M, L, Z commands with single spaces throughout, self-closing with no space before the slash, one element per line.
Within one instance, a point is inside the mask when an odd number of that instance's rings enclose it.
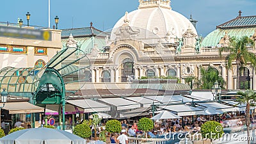
<path fill-rule="evenodd" d="M 74 128 L 73 134 L 76 134 L 77 136 L 80 136 L 81 138 L 90 138 L 92 136 L 92 131 L 90 127 L 86 124 L 79 124 L 76 125 Z"/>

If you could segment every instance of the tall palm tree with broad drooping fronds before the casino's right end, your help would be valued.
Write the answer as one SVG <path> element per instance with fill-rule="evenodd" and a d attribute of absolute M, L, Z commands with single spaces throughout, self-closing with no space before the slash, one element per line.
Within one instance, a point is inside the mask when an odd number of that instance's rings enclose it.
<path fill-rule="evenodd" d="M 239 81 L 239 70 L 243 65 L 246 65 L 247 63 L 251 63 L 253 67 L 256 66 L 256 57 L 253 52 L 249 52 L 247 47 L 254 47 L 254 42 L 252 39 L 250 39 L 248 36 L 243 36 L 242 38 L 230 38 L 230 44 L 228 47 L 221 47 L 220 48 L 220 56 L 221 52 L 229 52 L 226 63 L 227 68 L 232 68 L 232 62 L 236 61 L 237 65 L 237 81 L 236 81 L 236 89 L 239 90 L 240 88 L 240 81 Z"/>

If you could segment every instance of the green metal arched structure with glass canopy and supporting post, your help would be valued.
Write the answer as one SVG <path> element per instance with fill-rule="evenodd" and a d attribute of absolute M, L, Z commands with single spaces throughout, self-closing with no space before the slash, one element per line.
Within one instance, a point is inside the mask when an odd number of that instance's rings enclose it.
<path fill-rule="evenodd" d="M 69 47 L 58 52 L 43 68 L 3 68 L 0 87 L 6 88 L 10 95 L 29 97 L 31 103 L 38 106 L 60 104 L 65 130 L 65 86 L 76 83 L 72 89 L 81 88 L 84 85 L 83 70 L 88 67 L 90 61 L 86 54 Z"/>

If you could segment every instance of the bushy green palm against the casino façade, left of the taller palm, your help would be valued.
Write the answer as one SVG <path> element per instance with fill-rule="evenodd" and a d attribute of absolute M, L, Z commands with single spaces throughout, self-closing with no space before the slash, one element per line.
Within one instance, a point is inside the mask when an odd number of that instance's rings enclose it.
<path fill-rule="evenodd" d="M 200 79 L 200 87 L 202 89 L 210 90 L 216 81 L 218 81 L 221 88 L 225 88 L 225 81 L 223 77 L 219 76 L 219 72 L 216 68 L 211 66 L 207 68 L 201 67 L 200 73 L 202 76 Z"/>

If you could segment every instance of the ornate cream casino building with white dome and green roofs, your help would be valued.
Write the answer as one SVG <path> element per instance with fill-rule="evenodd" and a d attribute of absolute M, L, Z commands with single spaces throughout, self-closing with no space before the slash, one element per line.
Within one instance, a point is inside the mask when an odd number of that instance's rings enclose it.
<path fill-rule="evenodd" d="M 88 82 L 84 89 L 129 88 L 132 80 L 148 77 L 177 77 L 185 83 L 191 76 L 200 79 L 200 67 L 210 65 L 226 81 L 227 90 L 236 89 L 237 78 L 243 82 L 241 89 L 256 90 L 253 67 L 246 65 L 236 77 L 236 65 L 232 70 L 226 68 L 227 53 L 218 54 L 231 36 L 256 40 L 256 17 L 242 17 L 240 12 L 202 40 L 196 20 L 173 11 L 170 4 L 170 0 L 140 0 L 138 10 L 125 12 L 111 33 L 93 28 L 92 23 L 90 28 L 63 29 L 63 46 L 79 47 L 90 58 L 92 67 L 84 70 Z M 253 47 L 248 50 L 256 52 Z"/>

